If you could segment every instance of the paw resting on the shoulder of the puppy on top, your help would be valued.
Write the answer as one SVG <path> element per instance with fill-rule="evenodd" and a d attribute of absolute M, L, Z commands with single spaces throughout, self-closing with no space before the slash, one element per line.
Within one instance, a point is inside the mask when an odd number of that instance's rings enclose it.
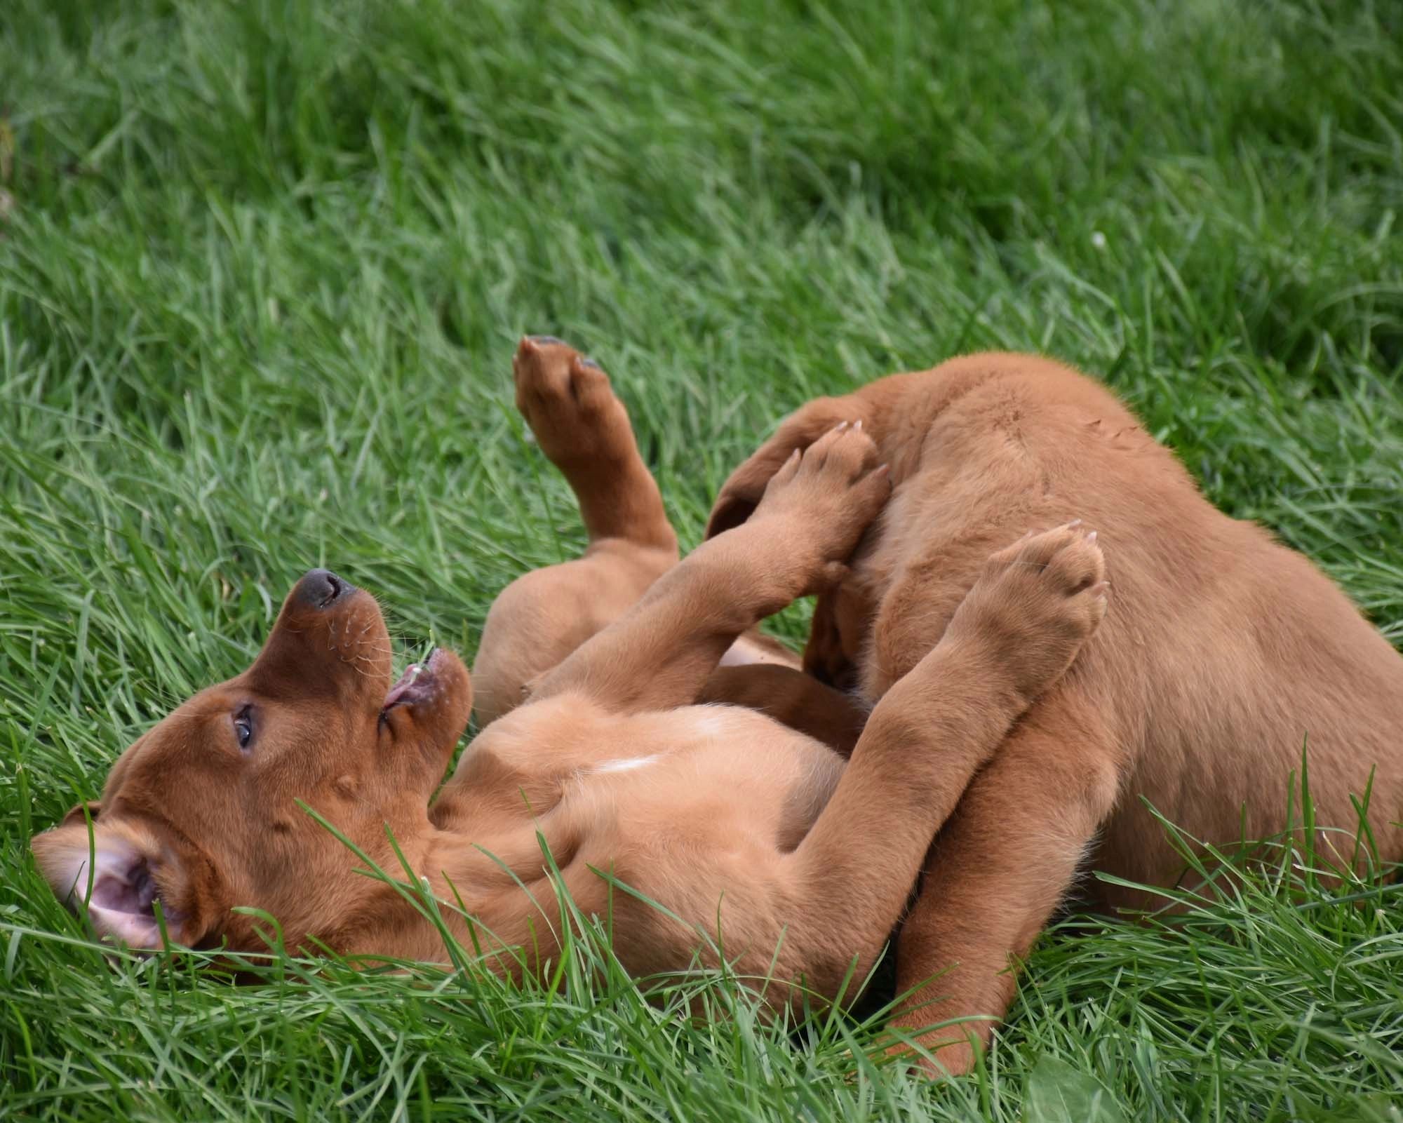
<path fill-rule="evenodd" d="M 986 651 L 1031 702 L 1072 665 L 1108 594 L 1096 531 L 1078 519 L 995 553 L 946 634 Z"/>

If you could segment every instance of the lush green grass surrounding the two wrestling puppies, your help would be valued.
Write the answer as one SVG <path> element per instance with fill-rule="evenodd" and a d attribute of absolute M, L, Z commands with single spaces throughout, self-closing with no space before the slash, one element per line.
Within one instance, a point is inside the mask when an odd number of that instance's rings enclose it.
<path fill-rule="evenodd" d="M 648 1005 L 588 933 L 525 990 L 107 962 L 27 839 L 309 566 L 470 654 L 581 545 L 523 330 L 613 373 L 686 543 L 804 399 L 1049 351 L 1403 643 L 1400 91 L 1392 0 L 7 0 L 0 1115 L 1396 1119 L 1381 882 L 1072 917 L 932 1087 L 880 1021 Z"/>

